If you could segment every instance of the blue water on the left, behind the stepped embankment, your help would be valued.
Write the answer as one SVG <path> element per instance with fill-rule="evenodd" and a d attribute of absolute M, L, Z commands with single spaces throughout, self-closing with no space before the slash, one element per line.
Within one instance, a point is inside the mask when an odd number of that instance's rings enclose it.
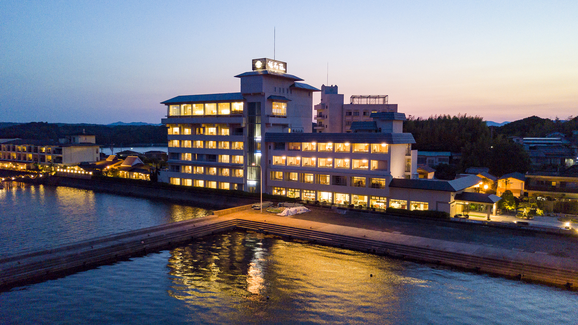
<path fill-rule="evenodd" d="M 12 254 L 208 215 L 194 206 L 63 186 L 0 190 L 0 252 Z"/>

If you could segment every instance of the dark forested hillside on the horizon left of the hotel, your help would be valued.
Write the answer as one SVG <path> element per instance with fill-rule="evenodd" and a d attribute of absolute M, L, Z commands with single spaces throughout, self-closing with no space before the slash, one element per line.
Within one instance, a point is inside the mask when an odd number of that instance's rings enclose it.
<path fill-rule="evenodd" d="M 95 125 L 95 124 L 55 124 L 32 122 L 0 128 L 0 139 L 52 139 L 86 131 L 96 135 L 99 145 L 111 143 L 166 143 L 166 127 L 155 125 Z"/>

